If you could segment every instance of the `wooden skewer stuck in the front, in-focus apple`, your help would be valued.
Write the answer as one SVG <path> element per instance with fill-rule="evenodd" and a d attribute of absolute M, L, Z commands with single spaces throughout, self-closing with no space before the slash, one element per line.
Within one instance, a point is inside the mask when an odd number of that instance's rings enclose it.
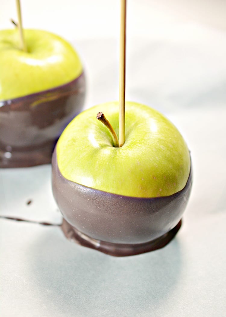
<path fill-rule="evenodd" d="M 121 147 L 125 142 L 126 0 L 121 0 L 119 59 L 119 147 Z"/>

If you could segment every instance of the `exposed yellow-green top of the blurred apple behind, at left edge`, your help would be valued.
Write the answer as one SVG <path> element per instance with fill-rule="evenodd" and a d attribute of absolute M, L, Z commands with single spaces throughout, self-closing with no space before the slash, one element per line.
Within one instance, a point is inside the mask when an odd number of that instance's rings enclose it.
<path fill-rule="evenodd" d="M 24 30 L 27 52 L 18 29 L 0 30 L 0 100 L 54 88 L 79 77 L 82 64 L 72 46 L 41 30 Z"/>

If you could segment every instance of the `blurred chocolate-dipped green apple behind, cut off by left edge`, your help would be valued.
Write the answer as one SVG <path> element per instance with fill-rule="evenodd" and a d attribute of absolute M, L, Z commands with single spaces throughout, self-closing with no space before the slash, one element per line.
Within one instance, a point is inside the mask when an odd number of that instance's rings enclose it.
<path fill-rule="evenodd" d="M 0 167 L 51 162 L 56 140 L 78 114 L 85 76 L 73 47 L 52 33 L 0 30 Z"/>

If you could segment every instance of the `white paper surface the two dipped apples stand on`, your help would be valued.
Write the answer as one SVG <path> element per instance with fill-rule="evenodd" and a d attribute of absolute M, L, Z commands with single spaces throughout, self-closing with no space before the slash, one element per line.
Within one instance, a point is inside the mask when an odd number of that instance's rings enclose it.
<path fill-rule="evenodd" d="M 56 22 L 46 22 L 53 13 L 52 2 L 45 3 L 48 10 L 43 12 L 43 25 L 49 26 L 45 29 L 65 36 L 73 17 L 69 1 L 64 1 L 70 19 L 62 11 L 62 33 L 59 25 L 55 28 Z M 83 3 L 81 11 L 86 3 L 94 2 Z M 138 4 L 131 3 L 138 10 Z M 152 9 L 147 1 L 141 3 Z M 9 4 L 3 4 L 8 14 Z M 41 4 L 33 8 L 37 16 Z M 100 19 L 98 8 L 94 4 L 88 7 L 92 24 L 88 19 L 79 36 L 71 29 L 65 36 L 78 48 L 85 64 L 85 108 L 118 99 L 114 28 L 118 9 L 108 9 L 112 11 L 110 20 L 104 17 L 96 25 L 93 19 Z M 60 9 L 57 2 L 55 13 Z M 173 22 L 158 12 L 149 22 L 144 10 L 142 37 L 142 25 L 134 24 L 134 36 L 128 30 L 127 99 L 164 112 L 187 140 L 194 183 L 181 230 L 161 250 L 114 258 L 70 243 L 58 227 L 0 219 L 1 316 L 226 315 L 226 34 L 209 27 L 208 19 L 201 26 L 179 17 Z M 82 18 L 84 13 L 78 17 L 79 23 Z M 159 19 L 164 27 L 159 27 Z M 212 25 L 217 25 L 216 20 Z M 147 26 L 155 23 L 156 28 L 150 27 L 148 32 Z M 51 194 L 50 177 L 50 165 L 0 170 L 1 215 L 58 223 L 61 216 Z M 29 199 L 32 203 L 27 205 Z"/>

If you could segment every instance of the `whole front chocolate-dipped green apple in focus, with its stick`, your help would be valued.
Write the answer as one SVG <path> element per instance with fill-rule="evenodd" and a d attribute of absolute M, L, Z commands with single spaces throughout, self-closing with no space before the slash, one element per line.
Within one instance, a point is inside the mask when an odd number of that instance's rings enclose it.
<path fill-rule="evenodd" d="M 121 12 L 120 102 L 90 108 L 69 123 L 53 153 L 52 189 L 68 239 L 129 256 L 163 247 L 180 229 L 192 167 L 169 120 L 125 103 L 125 0 Z"/>

